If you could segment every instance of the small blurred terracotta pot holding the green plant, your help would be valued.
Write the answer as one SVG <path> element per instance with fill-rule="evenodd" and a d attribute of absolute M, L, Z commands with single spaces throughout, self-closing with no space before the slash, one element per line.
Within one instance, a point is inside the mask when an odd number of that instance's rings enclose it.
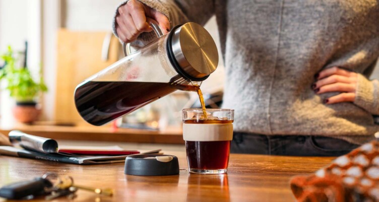
<path fill-rule="evenodd" d="M 13 116 L 22 123 L 32 123 L 38 120 L 41 107 L 35 102 L 17 102 L 13 108 Z"/>

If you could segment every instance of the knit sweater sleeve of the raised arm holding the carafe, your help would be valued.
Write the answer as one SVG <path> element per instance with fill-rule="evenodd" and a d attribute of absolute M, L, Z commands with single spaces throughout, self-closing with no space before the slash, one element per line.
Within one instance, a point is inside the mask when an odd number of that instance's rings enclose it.
<path fill-rule="evenodd" d="M 170 28 L 183 24 L 186 22 L 195 22 L 201 25 L 207 23 L 207 21 L 214 14 L 214 1 L 213 0 L 139 0 L 146 6 L 157 10 L 164 14 L 170 21 Z M 113 34 L 117 37 L 116 33 L 116 16 L 118 15 L 118 8 L 127 4 L 128 1 L 122 2 L 116 9 L 113 17 Z M 151 41 L 156 36 L 153 32 L 142 33 L 139 37 L 139 43 L 144 44 Z"/>

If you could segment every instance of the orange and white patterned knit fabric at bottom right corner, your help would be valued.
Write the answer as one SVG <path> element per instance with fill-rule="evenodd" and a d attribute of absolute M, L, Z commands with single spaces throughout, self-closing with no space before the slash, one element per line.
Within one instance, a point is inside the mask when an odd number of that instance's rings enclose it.
<path fill-rule="evenodd" d="M 338 157 L 310 176 L 296 176 L 291 189 L 301 202 L 379 201 L 379 142 Z"/>

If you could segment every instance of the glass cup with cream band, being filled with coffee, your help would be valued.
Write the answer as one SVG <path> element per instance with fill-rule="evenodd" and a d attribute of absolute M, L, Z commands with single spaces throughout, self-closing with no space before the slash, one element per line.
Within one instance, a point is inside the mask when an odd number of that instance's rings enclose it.
<path fill-rule="evenodd" d="M 227 172 L 230 141 L 233 139 L 232 109 L 183 109 L 183 139 L 189 172 Z"/>

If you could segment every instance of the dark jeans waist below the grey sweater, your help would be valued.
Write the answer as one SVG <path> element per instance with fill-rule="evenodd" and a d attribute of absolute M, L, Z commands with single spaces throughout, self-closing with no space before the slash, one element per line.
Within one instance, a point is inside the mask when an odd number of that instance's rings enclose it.
<path fill-rule="evenodd" d="M 234 132 L 230 152 L 284 156 L 341 156 L 359 145 L 322 136 L 266 136 Z"/>

